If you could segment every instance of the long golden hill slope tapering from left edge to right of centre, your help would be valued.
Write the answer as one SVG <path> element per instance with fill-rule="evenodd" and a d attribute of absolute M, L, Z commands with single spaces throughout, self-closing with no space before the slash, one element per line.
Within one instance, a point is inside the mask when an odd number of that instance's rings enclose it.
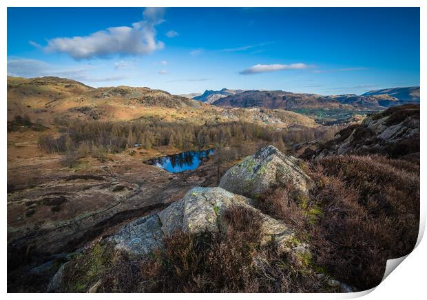
<path fill-rule="evenodd" d="M 230 91 L 222 90 L 224 93 Z M 55 117 L 102 121 L 154 118 L 191 123 L 244 120 L 278 127 L 317 126 L 313 119 L 302 114 L 269 110 L 251 110 L 242 114 L 163 90 L 129 86 L 92 88 L 59 77 L 8 77 L 8 121 L 25 114 L 32 121 L 42 120 L 43 123 L 52 123 Z"/>

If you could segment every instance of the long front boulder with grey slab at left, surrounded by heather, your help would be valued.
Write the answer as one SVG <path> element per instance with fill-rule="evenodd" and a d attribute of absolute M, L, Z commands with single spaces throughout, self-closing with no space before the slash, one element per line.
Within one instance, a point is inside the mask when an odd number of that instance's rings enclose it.
<path fill-rule="evenodd" d="M 145 255 L 163 246 L 162 239 L 177 231 L 201 234 L 227 232 L 223 217 L 227 208 L 242 206 L 262 219 L 262 242 L 275 241 L 282 251 L 293 245 L 294 232 L 282 221 L 262 214 L 253 207 L 255 201 L 222 188 L 192 188 L 183 199 L 172 203 L 158 214 L 151 214 L 124 226 L 111 240 L 116 248 L 131 256 Z"/>

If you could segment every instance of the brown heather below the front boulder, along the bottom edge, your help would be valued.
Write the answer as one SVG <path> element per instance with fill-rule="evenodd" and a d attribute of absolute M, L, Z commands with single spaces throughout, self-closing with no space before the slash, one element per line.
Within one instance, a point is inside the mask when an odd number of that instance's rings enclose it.
<path fill-rule="evenodd" d="M 176 232 L 163 250 L 130 259 L 108 243 L 94 243 L 65 267 L 64 292 L 324 292 L 309 263 L 260 245 L 260 217 L 232 207 L 227 234 Z"/>

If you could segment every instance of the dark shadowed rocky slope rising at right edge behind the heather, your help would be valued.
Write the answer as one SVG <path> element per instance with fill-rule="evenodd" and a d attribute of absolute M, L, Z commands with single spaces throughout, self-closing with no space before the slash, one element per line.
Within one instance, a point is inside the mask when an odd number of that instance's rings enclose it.
<path fill-rule="evenodd" d="M 419 160 L 419 105 L 394 106 L 337 133 L 332 141 L 307 149 L 303 157 L 331 154 L 384 154 Z"/>

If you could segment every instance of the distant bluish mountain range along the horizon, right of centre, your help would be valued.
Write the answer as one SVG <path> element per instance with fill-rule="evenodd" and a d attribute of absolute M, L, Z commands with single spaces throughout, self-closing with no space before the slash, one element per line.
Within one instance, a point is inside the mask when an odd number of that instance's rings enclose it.
<path fill-rule="evenodd" d="M 298 94 L 281 90 L 247 90 L 213 102 L 216 106 L 240 108 L 269 108 L 298 110 L 302 108 L 340 108 L 353 110 L 382 110 L 401 104 L 399 99 L 388 94 L 342 94 L 322 96 L 319 94 Z"/>

